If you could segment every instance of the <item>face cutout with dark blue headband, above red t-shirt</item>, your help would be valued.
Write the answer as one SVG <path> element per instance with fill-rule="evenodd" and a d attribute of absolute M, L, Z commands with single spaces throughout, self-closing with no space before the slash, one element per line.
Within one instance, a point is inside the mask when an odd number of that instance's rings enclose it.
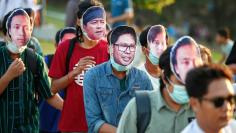
<path fill-rule="evenodd" d="M 104 8 L 93 6 L 88 8 L 80 20 L 83 34 L 89 40 L 100 40 L 106 35 L 106 12 Z"/>

